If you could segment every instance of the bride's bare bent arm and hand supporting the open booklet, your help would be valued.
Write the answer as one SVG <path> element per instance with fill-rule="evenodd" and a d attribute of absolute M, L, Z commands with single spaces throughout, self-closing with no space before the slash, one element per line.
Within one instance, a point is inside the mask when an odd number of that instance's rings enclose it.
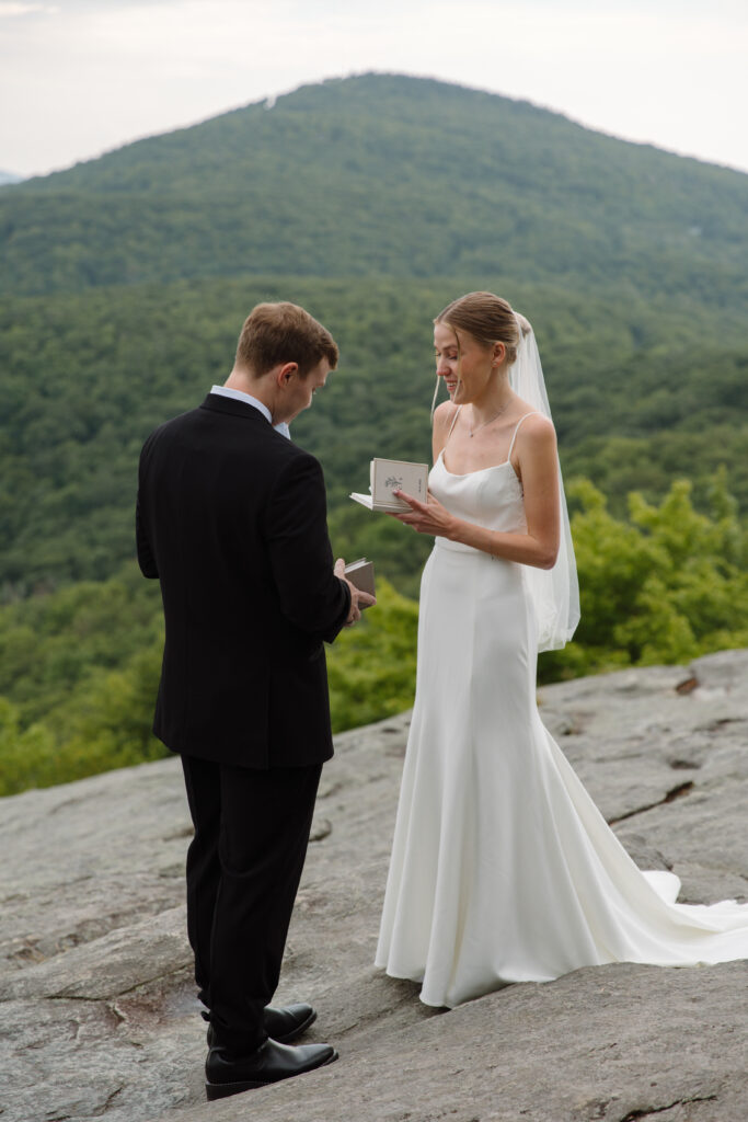
<path fill-rule="evenodd" d="M 436 444 L 436 425 L 434 430 Z M 545 417 L 528 417 L 517 434 L 516 451 L 524 491 L 526 534 L 505 534 L 458 518 L 433 495 L 430 495 L 428 503 L 419 503 L 401 491 L 400 497 L 410 506 L 410 513 L 393 517 L 413 526 L 419 534 L 449 537 L 506 561 L 552 569 L 558 552 L 560 525 L 558 461 L 556 435 L 551 422 Z"/>

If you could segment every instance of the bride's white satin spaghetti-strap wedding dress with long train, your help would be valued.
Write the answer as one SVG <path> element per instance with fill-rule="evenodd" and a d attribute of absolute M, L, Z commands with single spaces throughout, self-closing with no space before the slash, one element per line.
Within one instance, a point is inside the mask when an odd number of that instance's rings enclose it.
<path fill-rule="evenodd" d="M 526 532 L 510 456 L 460 476 L 442 453 L 430 488 Z M 454 1006 L 580 966 L 748 957 L 748 905 L 676 904 L 677 876 L 637 868 L 543 726 L 525 572 L 441 537 L 426 562 L 377 965 Z"/>

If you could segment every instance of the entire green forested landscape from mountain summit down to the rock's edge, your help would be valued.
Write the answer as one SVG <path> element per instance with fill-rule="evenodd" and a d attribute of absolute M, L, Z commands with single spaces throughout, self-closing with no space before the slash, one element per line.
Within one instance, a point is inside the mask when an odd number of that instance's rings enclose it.
<path fill-rule="evenodd" d="M 372 454 L 428 458 L 432 320 L 473 288 L 535 325 L 574 512 L 583 620 L 544 679 L 748 643 L 747 242 L 740 173 L 398 76 L 0 188 L 0 791 L 160 751 L 138 452 L 224 380 L 260 300 L 341 347 L 293 426 L 336 552 L 382 580 L 333 649 L 336 728 L 412 696 L 431 543 L 347 495 Z"/>

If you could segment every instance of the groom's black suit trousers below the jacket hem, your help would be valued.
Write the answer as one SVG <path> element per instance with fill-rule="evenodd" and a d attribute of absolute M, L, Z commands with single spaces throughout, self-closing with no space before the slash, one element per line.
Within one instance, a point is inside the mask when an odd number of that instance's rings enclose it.
<path fill-rule="evenodd" d="M 195 981 L 221 1042 L 246 1054 L 267 1037 L 322 764 L 261 771 L 183 755 L 182 765 Z"/>

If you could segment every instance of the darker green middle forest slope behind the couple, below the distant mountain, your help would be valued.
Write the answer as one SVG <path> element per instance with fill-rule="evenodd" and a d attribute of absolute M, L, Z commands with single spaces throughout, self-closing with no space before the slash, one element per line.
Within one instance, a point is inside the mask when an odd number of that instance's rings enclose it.
<path fill-rule="evenodd" d="M 729 346 L 737 332 L 714 332 L 714 313 L 677 301 L 611 306 L 480 279 L 537 325 L 567 477 L 589 476 L 621 513 L 629 490 L 655 499 L 681 475 L 703 503 L 724 463 L 748 509 L 748 344 Z M 347 495 L 373 454 L 428 458 L 432 319 L 469 284 L 246 278 L 0 302 L 6 599 L 102 579 L 131 557 L 140 445 L 224 380 L 259 300 L 298 301 L 341 344 L 340 369 L 294 435 L 323 461 L 333 521 L 369 535 L 371 516 Z M 378 528 L 380 563 L 413 594 L 425 543 L 398 530 Z"/>

